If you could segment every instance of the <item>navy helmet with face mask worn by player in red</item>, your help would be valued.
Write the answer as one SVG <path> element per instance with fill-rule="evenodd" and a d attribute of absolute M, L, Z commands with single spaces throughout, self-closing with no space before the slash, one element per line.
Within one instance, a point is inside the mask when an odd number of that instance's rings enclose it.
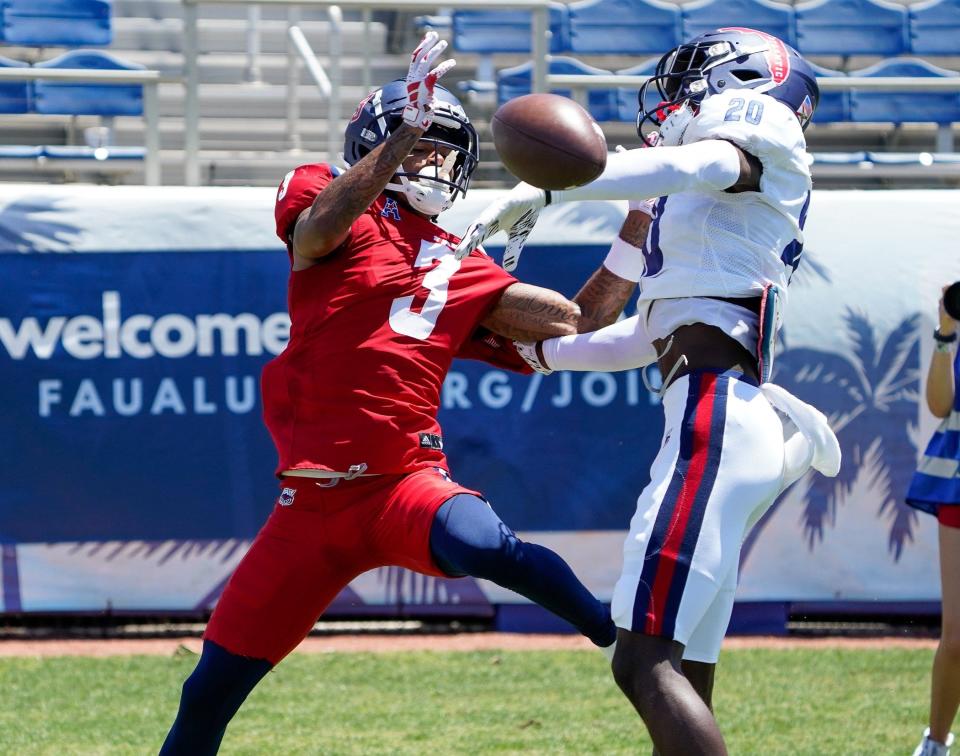
<path fill-rule="evenodd" d="M 419 171 L 407 171 L 401 166 L 386 187 L 403 194 L 414 210 L 430 217 L 466 195 L 480 157 L 477 131 L 460 101 L 439 85 L 434 92 L 433 123 L 418 144 L 428 142 L 448 159 Z M 406 102 L 406 83 L 398 79 L 360 103 L 344 135 L 343 158 L 347 165 L 354 165 L 400 127 Z"/>

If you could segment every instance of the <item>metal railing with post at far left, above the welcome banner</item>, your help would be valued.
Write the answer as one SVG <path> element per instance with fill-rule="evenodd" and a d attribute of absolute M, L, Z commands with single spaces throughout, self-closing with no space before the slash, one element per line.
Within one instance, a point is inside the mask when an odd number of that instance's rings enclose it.
<path fill-rule="evenodd" d="M 72 68 L 0 68 L 0 81 L 70 81 L 109 84 L 143 85 L 143 119 L 146 123 L 144 147 L 144 180 L 149 186 L 160 184 L 160 100 L 161 82 L 180 79 L 161 75 L 159 71 L 113 71 Z"/>

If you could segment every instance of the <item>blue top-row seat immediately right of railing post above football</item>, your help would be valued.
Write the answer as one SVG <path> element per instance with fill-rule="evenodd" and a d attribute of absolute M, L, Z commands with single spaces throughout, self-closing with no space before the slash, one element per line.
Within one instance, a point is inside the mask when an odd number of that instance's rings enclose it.
<path fill-rule="evenodd" d="M 680 8 L 659 0 L 584 0 L 569 6 L 570 50 L 653 55 L 683 40 Z"/>

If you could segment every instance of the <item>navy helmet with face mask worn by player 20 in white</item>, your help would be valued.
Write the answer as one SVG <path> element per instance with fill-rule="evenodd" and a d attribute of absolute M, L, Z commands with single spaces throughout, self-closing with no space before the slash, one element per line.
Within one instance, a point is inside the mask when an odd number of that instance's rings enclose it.
<path fill-rule="evenodd" d="M 659 103 L 650 107 L 656 89 Z M 717 29 L 664 55 L 638 93 L 637 133 L 651 131 L 680 106 L 697 112 L 704 98 L 729 89 L 764 92 L 789 107 L 806 128 L 820 99 L 816 74 L 793 48 L 765 32 Z"/>

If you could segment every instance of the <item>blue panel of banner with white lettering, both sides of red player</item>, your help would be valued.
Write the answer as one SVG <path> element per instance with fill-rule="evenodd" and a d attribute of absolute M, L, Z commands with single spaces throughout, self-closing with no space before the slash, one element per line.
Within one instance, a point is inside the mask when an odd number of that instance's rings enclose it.
<path fill-rule="evenodd" d="M 598 256 L 546 249 L 528 278 L 572 296 Z M 3 539 L 251 537 L 276 495 L 259 376 L 289 330 L 282 250 L 0 255 L 0 271 L 17 282 L 0 296 Z M 441 422 L 460 482 L 516 528 L 568 530 L 629 520 L 659 415 L 638 371 L 460 361 Z"/>

